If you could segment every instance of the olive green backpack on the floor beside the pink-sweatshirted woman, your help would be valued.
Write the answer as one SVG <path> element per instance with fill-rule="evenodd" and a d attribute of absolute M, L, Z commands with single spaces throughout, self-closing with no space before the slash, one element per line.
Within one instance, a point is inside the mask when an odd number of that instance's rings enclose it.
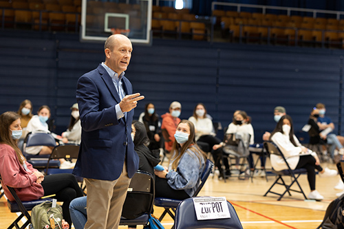
<path fill-rule="evenodd" d="M 48 229 L 50 226 L 50 218 L 54 220 L 54 228 L 62 228 L 63 219 L 62 208 L 56 204 L 52 208 L 52 201 L 45 201 L 42 204 L 34 206 L 31 211 L 31 222 L 34 229 Z"/>

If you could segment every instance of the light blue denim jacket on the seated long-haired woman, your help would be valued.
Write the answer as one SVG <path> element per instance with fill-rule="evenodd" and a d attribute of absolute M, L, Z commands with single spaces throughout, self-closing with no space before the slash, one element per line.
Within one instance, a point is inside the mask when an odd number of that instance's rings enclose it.
<path fill-rule="evenodd" d="M 178 167 L 175 171 L 167 173 L 167 183 L 175 190 L 185 190 L 192 197 L 200 184 L 202 172 L 204 170 L 204 157 L 202 164 L 191 149 L 187 149 L 180 158 Z"/>

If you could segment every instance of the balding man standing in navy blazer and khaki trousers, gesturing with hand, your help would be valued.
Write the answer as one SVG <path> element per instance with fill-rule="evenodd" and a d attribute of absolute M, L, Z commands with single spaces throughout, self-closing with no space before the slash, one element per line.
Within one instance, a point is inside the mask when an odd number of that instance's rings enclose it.
<path fill-rule="evenodd" d="M 133 108 L 144 96 L 132 94 L 124 76 L 132 50 L 127 36 L 109 36 L 105 63 L 78 79 L 76 100 L 83 131 L 73 174 L 85 177 L 85 228 L 118 228 L 130 179 L 138 170 L 131 121 Z"/>

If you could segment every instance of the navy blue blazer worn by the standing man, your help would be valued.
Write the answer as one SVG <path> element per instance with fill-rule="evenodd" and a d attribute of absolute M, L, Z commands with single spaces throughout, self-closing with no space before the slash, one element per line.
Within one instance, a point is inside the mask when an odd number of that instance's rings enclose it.
<path fill-rule="evenodd" d="M 125 94 L 132 94 L 129 80 L 123 77 L 122 83 Z M 127 112 L 127 118 L 117 119 L 115 105 L 120 103 L 120 96 L 102 65 L 78 79 L 76 100 L 83 131 L 73 174 L 115 180 L 120 177 L 127 156 L 128 176 L 132 177 L 139 164 L 131 140 L 133 110 Z"/>

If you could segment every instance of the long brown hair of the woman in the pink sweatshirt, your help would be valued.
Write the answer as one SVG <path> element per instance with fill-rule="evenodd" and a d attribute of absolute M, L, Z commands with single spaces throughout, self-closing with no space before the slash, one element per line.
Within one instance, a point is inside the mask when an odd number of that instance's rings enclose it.
<path fill-rule="evenodd" d="M 17 145 L 18 140 L 12 139 L 10 136 L 10 125 L 17 119 L 21 118 L 18 113 L 7 111 L 0 116 L 0 143 L 8 144 L 16 151 L 20 164 L 24 164 L 25 157 Z"/>

